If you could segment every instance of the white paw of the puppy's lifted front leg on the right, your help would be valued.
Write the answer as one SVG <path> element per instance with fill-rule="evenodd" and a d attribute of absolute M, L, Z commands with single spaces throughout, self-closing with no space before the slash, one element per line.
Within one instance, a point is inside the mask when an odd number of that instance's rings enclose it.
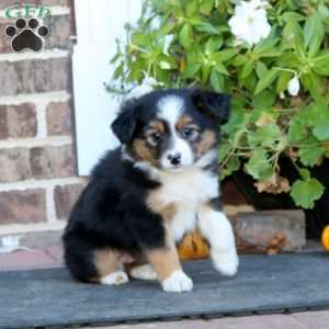
<path fill-rule="evenodd" d="M 236 250 L 230 252 L 212 251 L 212 259 L 215 269 L 223 275 L 234 276 L 237 274 L 239 266 L 239 259 Z"/>

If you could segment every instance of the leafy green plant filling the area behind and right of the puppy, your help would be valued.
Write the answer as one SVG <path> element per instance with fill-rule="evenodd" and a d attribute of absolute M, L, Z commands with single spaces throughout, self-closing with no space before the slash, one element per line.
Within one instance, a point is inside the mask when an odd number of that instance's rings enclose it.
<path fill-rule="evenodd" d="M 252 1 L 271 26 L 257 43 L 232 34 L 237 1 L 146 1 L 138 23 L 126 26 L 126 44 L 117 42 L 114 80 L 128 86 L 148 76 L 164 87 L 232 94 L 223 178 L 243 166 L 259 191 L 290 191 L 311 208 L 324 185 L 309 168 L 329 157 L 329 1 Z M 292 185 L 280 173 L 282 156 L 300 174 Z"/>

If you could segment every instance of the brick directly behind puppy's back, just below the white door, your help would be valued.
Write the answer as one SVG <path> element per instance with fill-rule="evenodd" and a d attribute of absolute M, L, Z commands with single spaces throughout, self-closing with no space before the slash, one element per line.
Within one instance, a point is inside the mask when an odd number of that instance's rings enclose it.
<path fill-rule="evenodd" d="M 58 218 L 68 218 L 69 213 L 83 189 L 83 184 L 55 186 L 54 198 Z"/>

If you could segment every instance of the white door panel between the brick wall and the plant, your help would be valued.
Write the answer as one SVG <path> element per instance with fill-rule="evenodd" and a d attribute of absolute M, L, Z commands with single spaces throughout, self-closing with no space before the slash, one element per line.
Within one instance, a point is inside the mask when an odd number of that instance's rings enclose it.
<path fill-rule="evenodd" d="M 141 0 L 76 0 L 72 66 L 80 175 L 88 175 L 104 151 L 118 145 L 110 129 L 117 100 L 105 91 L 104 82 L 113 72 L 115 38 L 125 36 L 124 24 L 136 22 L 140 9 Z"/>

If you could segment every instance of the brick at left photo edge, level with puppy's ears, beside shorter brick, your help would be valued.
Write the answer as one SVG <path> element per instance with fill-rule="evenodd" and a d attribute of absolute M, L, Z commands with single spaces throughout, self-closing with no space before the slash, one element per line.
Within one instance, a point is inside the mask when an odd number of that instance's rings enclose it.
<path fill-rule="evenodd" d="M 0 139 L 26 138 L 36 135 L 36 111 L 32 103 L 0 106 Z"/>

